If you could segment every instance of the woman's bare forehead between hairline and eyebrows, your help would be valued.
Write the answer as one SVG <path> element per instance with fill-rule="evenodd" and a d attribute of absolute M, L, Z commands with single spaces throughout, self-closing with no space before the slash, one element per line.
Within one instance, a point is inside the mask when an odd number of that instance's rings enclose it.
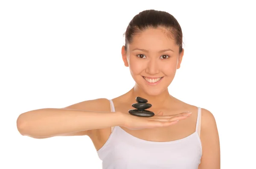
<path fill-rule="evenodd" d="M 132 39 L 132 43 L 128 45 L 131 50 L 133 48 L 143 48 L 149 51 L 160 51 L 166 48 L 172 48 L 172 50 L 178 50 L 178 46 L 175 45 L 175 40 L 172 35 L 164 29 L 146 29 L 135 35 Z"/>

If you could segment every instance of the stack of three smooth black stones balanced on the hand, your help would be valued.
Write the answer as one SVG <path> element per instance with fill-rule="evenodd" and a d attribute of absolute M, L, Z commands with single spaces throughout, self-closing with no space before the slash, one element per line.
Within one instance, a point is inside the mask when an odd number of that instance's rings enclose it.
<path fill-rule="evenodd" d="M 148 103 L 147 99 L 143 99 L 141 97 L 136 97 L 137 103 L 132 104 L 131 106 L 136 108 L 129 110 L 128 112 L 131 115 L 139 116 L 139 117 L 152 117 L 154 116 L 154 112 L 145 110 L 150 108 L 152 105 Z"/>

